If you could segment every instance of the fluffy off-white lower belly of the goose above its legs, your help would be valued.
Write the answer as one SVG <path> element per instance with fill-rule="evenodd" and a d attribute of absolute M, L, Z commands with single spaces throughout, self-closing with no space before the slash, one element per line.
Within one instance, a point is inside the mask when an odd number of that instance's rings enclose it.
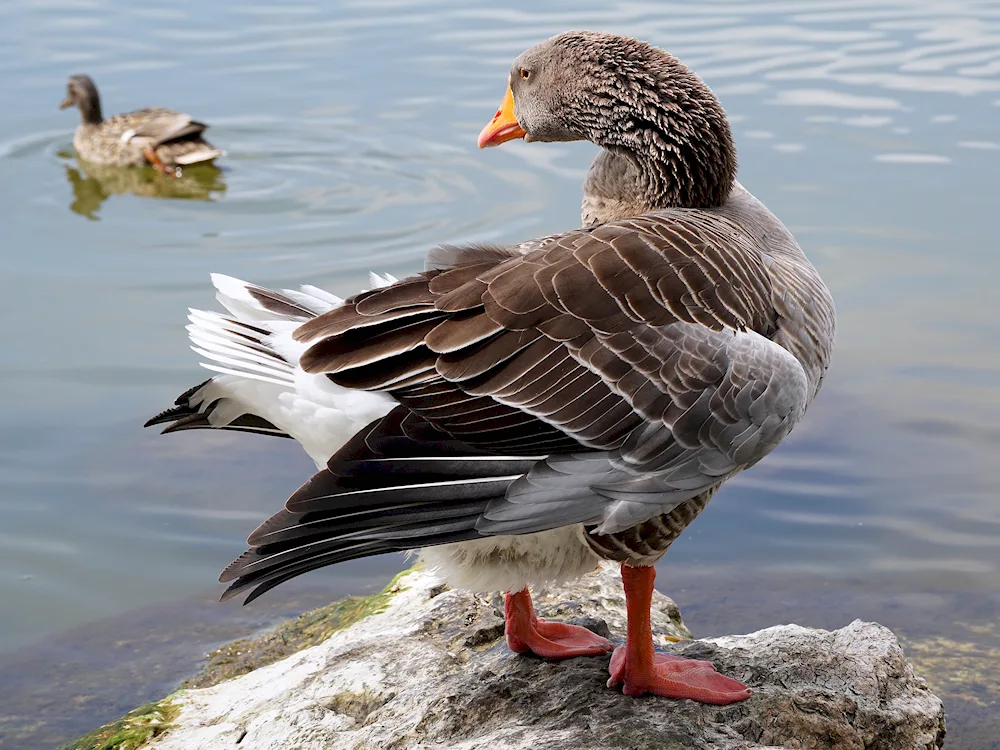
<path fill-rule="evenodd" d="M 600 563 L 582 524 L 519 536 L 493 536 L 442 544 L 420 551 L 420 559 L 452 586 L 468 591 L 520 591 L 561 583 Z"/>

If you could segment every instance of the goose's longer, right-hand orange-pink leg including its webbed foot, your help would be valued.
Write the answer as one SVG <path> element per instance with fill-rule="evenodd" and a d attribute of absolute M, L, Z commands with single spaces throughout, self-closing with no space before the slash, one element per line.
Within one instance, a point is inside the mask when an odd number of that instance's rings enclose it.
<path fill-rule="evenodd" d="M 742 682 L 719 674 L 711 662 L 683 659 L 653 651 L 653 630 L 649 607 L 653 602 L 652 567 L 622 565 L 628 634 L 625 645 L 611 657 L 608 687 L 623 685 L 625 695 L 646 693 L 665 698 L 687 698 L 699 703 L 725 706 L 750 697 Z"/>

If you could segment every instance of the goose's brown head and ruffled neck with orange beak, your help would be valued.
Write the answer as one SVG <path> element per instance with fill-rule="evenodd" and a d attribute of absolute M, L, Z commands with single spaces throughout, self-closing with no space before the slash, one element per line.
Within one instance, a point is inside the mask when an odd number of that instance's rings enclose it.
<path fill-rule="evenodd" d="M 616 34 L 566 32 L 514 60 L 479 146 L 518 138 L 602 147 L 588 188 L 647 211 L 721 205 L 736 178 L 729 121 L 708 86 L 669 53 Z"/>

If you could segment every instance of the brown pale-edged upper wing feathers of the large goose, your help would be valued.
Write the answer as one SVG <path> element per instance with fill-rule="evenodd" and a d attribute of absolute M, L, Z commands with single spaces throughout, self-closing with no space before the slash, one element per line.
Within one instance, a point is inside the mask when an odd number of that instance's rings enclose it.
<path fill-rule="evenodd" d="M 366 292 L 295 332 L 311 373 L 388 390 L 435 428 L 485 450 L 612 449 L 643 422 L 697 431 L 691 394 L 721 378 L 679 351 L 673 324 L 776 330 L 767 271 L 722 216 L 674 210 L 547 238 L 511 255 Z M 693 345 L 692 345 L 693 346 Z M 736 413 L 740 394 L 718 395 Z M 733 402 L 730 404 L 729 402 Z"/>

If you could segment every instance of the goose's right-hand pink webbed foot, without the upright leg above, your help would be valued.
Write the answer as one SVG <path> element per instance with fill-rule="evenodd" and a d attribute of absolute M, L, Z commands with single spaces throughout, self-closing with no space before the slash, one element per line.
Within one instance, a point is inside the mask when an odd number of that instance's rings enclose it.
<path fill-rule="evenodd" d="M 719 674 L 712 662 L 654 654 L 651 664 L 629 668 L 625 647 L 615 649 L 608 672 L 608 687 L 622 685 L 625 695 L 652 693 L 664 698 L 686 698 L 698 703 L 728 706 L 751 695 L 742 682 Z"/>

